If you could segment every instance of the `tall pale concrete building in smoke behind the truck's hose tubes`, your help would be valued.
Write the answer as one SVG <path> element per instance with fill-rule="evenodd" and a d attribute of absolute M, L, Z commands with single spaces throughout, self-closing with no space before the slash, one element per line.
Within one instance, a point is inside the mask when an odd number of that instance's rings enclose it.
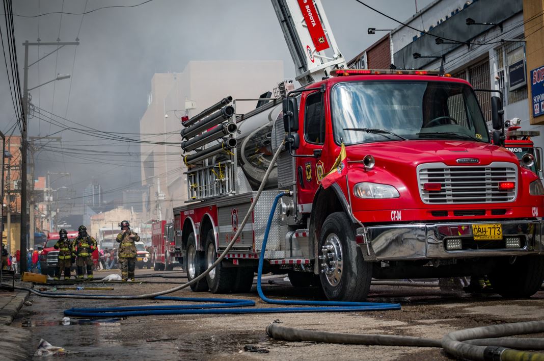
<path fill-rule="evenodd" d="M 187 200 L 183 175 L 186 168 L 180 149 L 181 117 L 195 115 L 227 95 L 258 98 L 282 80 L 281 61 L 195 61 L 180 73 L 153 76 L 140 133 L 165 134 L 146 136 L 146 140 L 163 144 L 140 146 L 142 186 L 149 187 L 144 203 L 148 221 L 172 219 L 173 207 Z M 236 112 L 248 112 L 256 105 L 256 101 L 237 102 Z"/>

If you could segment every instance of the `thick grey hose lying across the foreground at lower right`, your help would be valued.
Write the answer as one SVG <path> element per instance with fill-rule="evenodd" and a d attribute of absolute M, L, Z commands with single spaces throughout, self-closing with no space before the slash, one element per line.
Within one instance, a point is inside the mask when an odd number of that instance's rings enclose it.
<path fill-rule="evenodd" d="M 327 342 L 350 345 L 442 347 L 447 353 L 471 360 L 544 360 L 544 353 L 512 350 L 544 350 L 542 338 L 504 338 L 544 332 L 544 321 L 505 323 L 450 332 L 442 340 L 413 336 L 349 334 L 308 331 L 271 323 L 267 334 L 276 340 Z"/>

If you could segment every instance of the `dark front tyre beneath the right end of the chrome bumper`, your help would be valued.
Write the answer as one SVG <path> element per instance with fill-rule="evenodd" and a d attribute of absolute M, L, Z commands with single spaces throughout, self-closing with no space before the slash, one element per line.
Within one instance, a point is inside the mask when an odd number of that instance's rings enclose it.
<path fill-rule="evenodd" d="M 533 296 L 544 280 L 544 256 L 518 256 L 513 265 L 504 261 L 489 275 L 489 280 L 501 296 Z"/>

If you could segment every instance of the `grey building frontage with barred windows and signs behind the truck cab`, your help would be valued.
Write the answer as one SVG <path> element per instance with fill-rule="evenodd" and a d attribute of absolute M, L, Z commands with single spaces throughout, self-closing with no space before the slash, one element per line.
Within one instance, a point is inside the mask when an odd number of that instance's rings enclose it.
<path fill-rule="evenodd" d="M 544 81 L 543 9 L 542 0 L 436 0 L 388 34 L 390 54 L 375 51 L 385 48 L 386 36 L 348 64 L 379 69 L 370 64 L 371 58 L 374 64 L 392 58 L 399 69 L 439 70 L 443 57 L 444 72 L 477 89 L 502 91 L 504 119 L 519 118 L 522 130 L 540 131 L 532 139 L 543 147 L 544 111 L 534 115 L 535 107 L 544 107 L 544 88 L 535 82 L 533 92 L 538 94 L 531 93 L 537 70 L 542 69 Z M 477 96 L 490 121 L 491 94 Z"/>

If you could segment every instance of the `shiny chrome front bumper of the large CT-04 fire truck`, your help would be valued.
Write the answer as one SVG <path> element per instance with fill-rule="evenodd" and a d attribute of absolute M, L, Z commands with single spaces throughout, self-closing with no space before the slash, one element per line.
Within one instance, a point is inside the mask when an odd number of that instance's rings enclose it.
<path fill-rule="evenodd" d="M 502 225 L 503 241 L 475 241 L 473 224 Z M 361 227 L 356 241 L 366 261 L 454 259 L 544 254 L 542 221 L 390 224 Z M 458 230 L 462 230 L 461 232 Z M 521 248 L 505 248 L 504 237 L 518 236 Z M 461 238 L 463 249 L 447 250 L 448 238 Z"/>

